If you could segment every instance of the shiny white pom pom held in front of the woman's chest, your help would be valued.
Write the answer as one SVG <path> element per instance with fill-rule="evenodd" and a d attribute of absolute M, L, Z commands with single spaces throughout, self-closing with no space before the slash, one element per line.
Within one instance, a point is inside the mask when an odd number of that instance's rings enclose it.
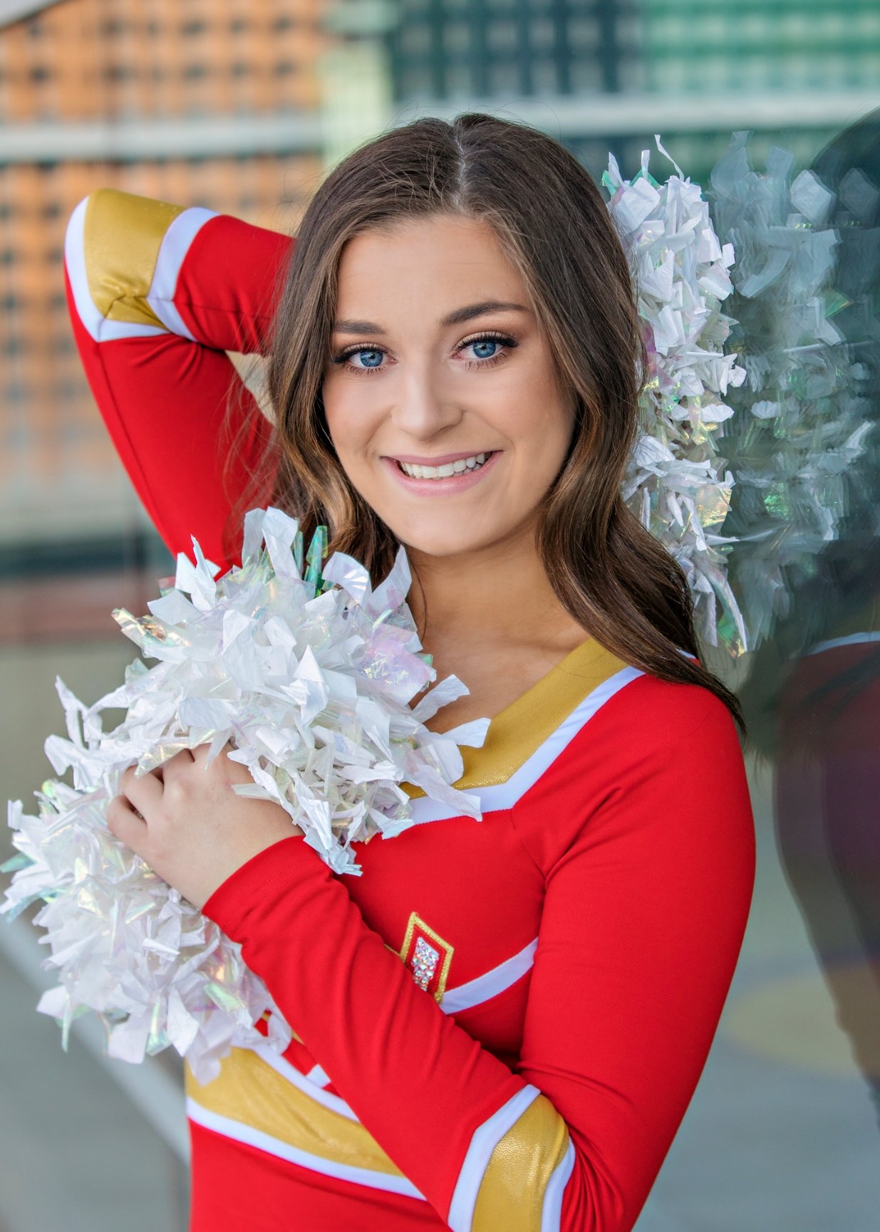
<path fill-rule="evenodd" d="M 456 733 L 424 726 L 467 689 L 449 678 L 409 706 L 436 673 L 418 653 L 405 605 L 405 552 L 375 591 L 366 569 L 341 554 L 316 583 L 320 543 L 306 580 L 293 519 L 270 506 L 249 510 L 244 524 L 240 568 L 216 578 L 194 538 L 195 564 L 181 553 L 175 588 L 148 605 L 149 616 L 115 612 L 158 664 L 136 662 L 91 707 L 59 680 L 69 739 L 49 737 L 46 752 L 58 772 L 73 766 L 75 786 L 44 782 L 38 817 L 21 801 L 7 809 L 20 855 L 6 866 L 16 871 L 0 913 L 46 901 L 36 923 L 59 973 L 41 1011 L 67 1032 L 92 1010 L 111 1056 L 139 1062 L 171 1046 L 201 1082 L 233 1045 L 266 1044 L 255 1027 L 265 1010 L 269 1047 L 283 1052 L 291 1032 L 240 947 L 107 829 L 106 806 L 127 766 L 147 771 L 206 743 L 216 756 L 232 738 L 230 756 L 254 780 L 237 792 L 280 803 L 340 873 L 360 872 L 352 843 L 413 824 L 403 781 L 481 816 L 478 798 L 452 787 L 462 772 Z M 126 718 L 104 733 L 101 711 L 116 707 L 127 707 Z M 479 744 L 486 726 L 463 724 L 457 737 Z"/>

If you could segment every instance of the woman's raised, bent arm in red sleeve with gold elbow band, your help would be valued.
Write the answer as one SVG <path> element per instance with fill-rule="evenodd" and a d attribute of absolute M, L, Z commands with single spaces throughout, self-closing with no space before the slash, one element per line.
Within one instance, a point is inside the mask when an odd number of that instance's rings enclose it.
<path fill-rule="evenodd" d="M 267 423 L 226 351 L 265 352 L 293 250 L 288 235 L 201 206 L 96 188 L 64 245 L 74 338 L 144 508 L 174 554 L 191 535 L 224 570 L 230 495 L 258 464 Z M 227 466 L 221 434 L 234 391 Z M 244 423 L 248 428 L 244 428 Z"/>

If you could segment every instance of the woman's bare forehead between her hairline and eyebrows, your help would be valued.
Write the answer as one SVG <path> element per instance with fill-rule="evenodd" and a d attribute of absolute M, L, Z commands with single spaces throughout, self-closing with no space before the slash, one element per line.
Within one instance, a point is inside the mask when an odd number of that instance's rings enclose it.
<path fill-rule="evenodd" d="M 407 218 L 354 235 L 343 248 L 338 285 L 340 307 L 354 297 L 370 294 L 375 302 L 408 287 L 430 291 L 435 301 L 466 291 L 499 299 L 525 294 L 488 223 L 456 214 Z"/>

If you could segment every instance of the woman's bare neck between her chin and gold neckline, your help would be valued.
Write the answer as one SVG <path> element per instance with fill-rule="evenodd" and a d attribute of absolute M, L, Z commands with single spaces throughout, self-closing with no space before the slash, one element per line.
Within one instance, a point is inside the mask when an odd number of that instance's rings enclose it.
<path fill-rule="evenodd" d="M 461 639 L 487 647 L 578 639 L 534 529 L 472 552 L 429 556 L 408 547 L 407 557 L 413 572 L 407 602 L 428 650 Z"/>

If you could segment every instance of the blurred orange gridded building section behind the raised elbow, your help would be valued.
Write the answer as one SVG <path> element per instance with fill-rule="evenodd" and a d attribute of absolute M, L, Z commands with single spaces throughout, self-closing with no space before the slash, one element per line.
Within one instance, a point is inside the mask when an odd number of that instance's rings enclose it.
<path fill-rule="evenodd" d="M 148 532 L 70 334 L 67 219 L 107 185 L 293 225 L 320 174 L 320 12 L 65 0 L 0 26 L 0 553 Z"/>

